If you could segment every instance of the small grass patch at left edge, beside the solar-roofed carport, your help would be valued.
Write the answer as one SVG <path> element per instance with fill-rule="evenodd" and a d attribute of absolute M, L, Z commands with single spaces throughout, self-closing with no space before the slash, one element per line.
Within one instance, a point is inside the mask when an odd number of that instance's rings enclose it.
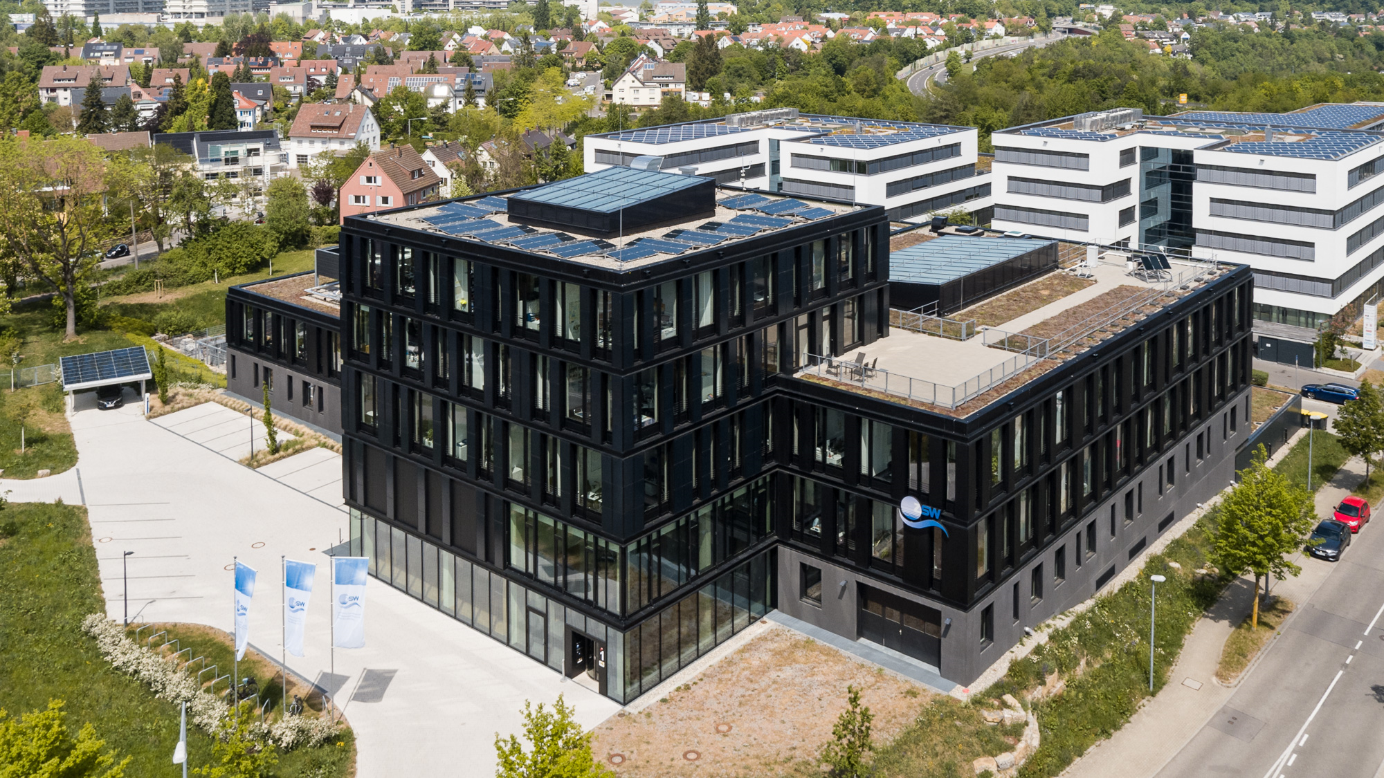
<path fill-rule="evenodd" d="M 78 464 L 72 428 L 62 407 L 62 390 L 57 383 L 0 390 L 0 471 L 4 478 L 35 478 L 42 469 L 57 475 Z"/>

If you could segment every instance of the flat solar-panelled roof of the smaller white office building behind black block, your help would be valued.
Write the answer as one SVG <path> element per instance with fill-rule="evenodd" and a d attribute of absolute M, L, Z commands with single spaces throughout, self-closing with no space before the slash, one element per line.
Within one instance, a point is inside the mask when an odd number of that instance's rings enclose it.
<path fill-rule="evenodd" d="M 801 114 L 796 118 L 776 118 L 756 125 L 731 125 L 725 118 L 663 125 L 638 130 L 592 134 L 587 137 L 608 138 L 621 143 L 642 143 L 660 145 L 707 137 L 734 136 L 752 130 L 787 130 L 803 133 L 807 143 L 837 145 L 847 148 L 879 148 L 912 140 L 930 138 L 970 130 L 954 125 L 927 125 L 922 122 L 886 122 L 882 119 L 859 119 L 855 116 L 828 116 Z M 794 138 L 797 140 L 797 138 Z"/>

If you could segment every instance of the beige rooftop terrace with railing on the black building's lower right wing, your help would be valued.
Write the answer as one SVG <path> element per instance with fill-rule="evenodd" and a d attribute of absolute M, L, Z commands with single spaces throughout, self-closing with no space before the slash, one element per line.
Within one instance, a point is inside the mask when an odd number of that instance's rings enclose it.
<path fill-rule="evenodd" d="M 1109 251 L 1095 264 L 1068 263 L 951 318 L 894 310 L 887 338 L 837 359 L 810 356 L 796 377 L 966 417 L 1193 293 L 1226 270 L 1215 262 L 1172 259 L 1167 271 L 1131 273 L 1127 259 Z M 1031 300 L 1055 273 L 1086 278 L 1091 285 L 1037 307 L 1019 306 L 1026 313 L 995 327 L 976 325 L 980 307 L 994 310 L 995 300 L 1010 296 Z"/>

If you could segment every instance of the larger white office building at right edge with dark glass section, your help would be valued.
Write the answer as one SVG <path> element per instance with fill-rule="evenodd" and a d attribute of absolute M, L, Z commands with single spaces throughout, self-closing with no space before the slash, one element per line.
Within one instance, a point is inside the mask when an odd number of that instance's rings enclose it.
<path fill-rule="evenodd" d="M 1254 269 L 1261 321 L 1316 328 L 1384 278 L 1384 104 L 1116 109 L 1012 127 L 992 227 Z"/>

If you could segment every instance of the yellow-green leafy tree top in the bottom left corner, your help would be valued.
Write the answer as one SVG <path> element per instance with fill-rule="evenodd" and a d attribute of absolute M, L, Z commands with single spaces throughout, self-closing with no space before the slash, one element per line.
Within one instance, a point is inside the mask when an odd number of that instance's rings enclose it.
<path fill-rule="evenodd" d="M 47 710 L 19 718 L 0 710 L 0 766 L 6 775 L 53 775 L 61 778 L 122 778 L 131 757 L 102 752 L 105 741 L 95 727 L 83 724 L 76 739 L 68 732 L 62 700 L 50 699 Z"/>

